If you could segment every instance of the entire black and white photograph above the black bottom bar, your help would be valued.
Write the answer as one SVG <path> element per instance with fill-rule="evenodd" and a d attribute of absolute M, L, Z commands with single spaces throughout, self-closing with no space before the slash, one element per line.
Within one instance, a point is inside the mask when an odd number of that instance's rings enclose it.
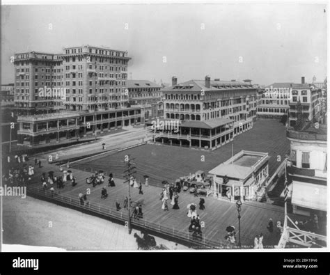
<path fill-rule="evenodd" d="M 329 251 L 328 8 L 4 1 L 1 251 Z"/>

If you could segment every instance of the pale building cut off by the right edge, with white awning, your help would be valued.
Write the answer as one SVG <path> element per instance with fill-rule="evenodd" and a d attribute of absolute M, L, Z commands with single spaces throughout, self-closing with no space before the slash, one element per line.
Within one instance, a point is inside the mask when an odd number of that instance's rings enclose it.
<path fill-rule="evenodd" d="M 313 217 L 327 215 L 327 125 L 288 129 L 293 212 Z"/>

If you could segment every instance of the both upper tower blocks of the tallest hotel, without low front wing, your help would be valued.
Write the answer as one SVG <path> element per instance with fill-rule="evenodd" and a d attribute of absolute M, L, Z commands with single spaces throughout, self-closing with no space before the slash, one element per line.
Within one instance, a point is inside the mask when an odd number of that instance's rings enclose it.
<path fill-rule="evenodd" d="M 104 111 L 126 107 L 127 52 L 107 47 L 64 48 L 62 54 L 15 54 L 15 109 L 18 115 L 56 109 Z M 40 95 L 41 89 L 52 93 Z M 65 91 L 58 96 L 54 91 Z"/>

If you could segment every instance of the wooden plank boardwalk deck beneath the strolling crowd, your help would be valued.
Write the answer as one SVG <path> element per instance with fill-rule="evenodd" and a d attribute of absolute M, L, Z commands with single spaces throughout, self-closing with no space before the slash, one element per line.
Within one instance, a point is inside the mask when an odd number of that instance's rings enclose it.
<path fill-rule="evenodd" d="M 77 178 L 78 184 L 72 187 L 70 182 L 65 184 L 64 189 L 57 189 L 57 194 L 70 195 L 73 198 L 78 198 L 79 193 L 85 193 L 86 189 L 91 189 L 91 195 L 88 195 L 88 201 L 91 203 L 100 203 L 102 207 L 115 208 L 116 200 L 120 201 L 120 205 L 123 206 L 125 196 L 127 196 L 127 184 L 123 184 L 123 180 L 115 178 L 116 187 L 107 187 L 108 198 L 101 199 L 101 189 L 107 186 L 108 177 L 106 177 L 104 184 L 97 185 L 96 187 L 91 184 L 86 184 L 86 178 L 91 173 L 86 171 L 79 171 L 74 168 L 72 170 L 74 177 Z M 54 164 L 45 164 L 42 168 L 36 168 L 36 175 L 33 176 L 33 185 L 41 186 L 40 176 L 42 171 L 55 171 L 55 175 L 61 175 L 58 171 L 58 166 Z M 146 223 L 153 223 L 168 228 L 168 230 L 178 230 L 180 233 L 187 235 L 189 227 L 189 217 L 187 217 L 187 205 L 189 203 L 196 203 L 198 205 L 199 198 L 195 198 L 193 195 L 187 192 L 181 192 L 179 194 L 179 206 L 180 210 L 173 210 L 169 204 L 169 211 L 161 209 L 162 202 L 159 200 L 159 194 L 161 189 L 158 187 L 144 187 L 143 195 L 139 194 L 139 189 L 132 188 L 131 195 L 133 205 L 141 204 L 143 208 L 143 218 L 146 219 Z M 127 212 L 127 210 L 120 210 Z M 227 226 L 235 226 L 238 230 L 237 210 L 235 203 L 229 201 L 219 201 L 214 198 L 205 198 L 205 210 L 198 210 L 198 214 L 201 217 L 201 221 L 205 222 L 205 228 L 203 228 L 203 235 L 206 239 L 211 239 L 215 242 L 221 242 L 226 244 L 224 237 L 226 235 Z M 253 239 L 256 234 L 263 233 L 264 247 L 274 247 L 278 243 L 279 236 L 276 235 L 276 221 L 283 222 L 284 213 L 283 207 L 275 205 L 267 205 L 266 203 L 243 203 L 241 212 L 241 241 L 243 248 L 253 248 Z M 269 218 L 274 221 L 274 232 L 269 233 L 267 230 L 267 223 Z M 190 233 L 191 235 L 191 233 Z M 238 237 L 238 235 L 237 235 Z"/>

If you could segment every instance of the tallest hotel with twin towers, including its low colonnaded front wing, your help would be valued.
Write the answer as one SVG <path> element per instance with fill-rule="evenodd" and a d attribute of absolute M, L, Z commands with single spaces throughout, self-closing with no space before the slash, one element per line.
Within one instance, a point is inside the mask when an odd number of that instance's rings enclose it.
<path fill-rule="evenodd" d="M 141 108 L 127 106 L 129 59 L 88 45 L 15 54 L 18 144 L 67 143 L 141 123 Z"/>

